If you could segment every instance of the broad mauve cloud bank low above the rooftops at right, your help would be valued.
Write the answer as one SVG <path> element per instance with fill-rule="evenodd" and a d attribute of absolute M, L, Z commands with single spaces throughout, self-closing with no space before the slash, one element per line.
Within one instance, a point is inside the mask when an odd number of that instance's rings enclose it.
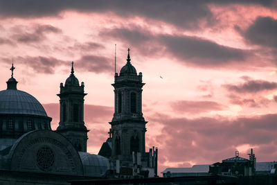
<path fill-rule="evenodd" d="M 160 155 L 166 157 L 164 161 L 212 164 L 232 157 L 236 147 L 244 144 L 260 147 L 254 148 L 258 161 L 274 160 L 276 145 L 266 155 L 261 148 L 277 142 L 276 118 L 277 114 L 233 120 L 224 117 L 189 119 L 159 115 L 152 116 L 150 122 L 157 121 L 163 125 L 156 141 L 161 143 L 159 151 Z"/>

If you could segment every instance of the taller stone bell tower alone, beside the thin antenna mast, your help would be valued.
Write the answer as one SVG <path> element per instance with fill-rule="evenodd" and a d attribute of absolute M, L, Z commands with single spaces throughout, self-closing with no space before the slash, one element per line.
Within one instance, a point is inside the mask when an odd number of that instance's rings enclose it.
<path fill-rule="evenodd" d="M 142 73 L 137 75 L 131 64 L 129 49 L 127 64 L 114 76 L 114 117 L 111 124 L 111 159 L 120 166 L 132 167 L 133 152 L 145 157 L 145 124 L 142 112 Z"/>

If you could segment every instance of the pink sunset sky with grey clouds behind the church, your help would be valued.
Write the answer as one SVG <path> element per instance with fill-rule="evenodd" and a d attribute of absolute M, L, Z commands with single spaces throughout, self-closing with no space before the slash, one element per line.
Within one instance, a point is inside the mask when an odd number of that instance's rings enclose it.
<path fill-rule="evenodd" d="M 168 167 L 235 155 L 277 158 L 277 1 L 0 1 L 0 89 L 12 58 L 17 89 L 59 123 L 60 82 L 84 82 L 88 152 L 114 112 L 116 72 L 143 73 L 146 151 Z"/>

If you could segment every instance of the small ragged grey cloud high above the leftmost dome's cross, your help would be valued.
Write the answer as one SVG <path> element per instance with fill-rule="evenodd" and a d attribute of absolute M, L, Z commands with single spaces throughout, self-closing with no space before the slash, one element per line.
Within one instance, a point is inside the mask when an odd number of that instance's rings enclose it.
<path fill-rule="evenodd" d="M 30 32 L 28 29 L 32 29 Z M 41 42 L 46 39 L 46 33 L 62 33 L 60 28 L 56 28 L 51 25 L 35 25 L 30 28 L 13 28 L 17 33 L 12 35 L 12 38 L 16 39 L 17 42 L 21 43 L 32 43 L 32 42 Z"/>

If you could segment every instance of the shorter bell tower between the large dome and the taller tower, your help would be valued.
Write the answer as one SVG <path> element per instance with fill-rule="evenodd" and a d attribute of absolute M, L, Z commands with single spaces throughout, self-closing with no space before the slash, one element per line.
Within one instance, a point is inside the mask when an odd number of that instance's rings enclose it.
<path fill-rule="evenodd" d="M 71 75 L 65 84 L 60 83 L 60 123 L 57 132 L 64 135 L 78 152 L 87 152 L 87 127 L 84 125 L 84 82 L 79 85 L 74 75 L 73 62 Z"/>

